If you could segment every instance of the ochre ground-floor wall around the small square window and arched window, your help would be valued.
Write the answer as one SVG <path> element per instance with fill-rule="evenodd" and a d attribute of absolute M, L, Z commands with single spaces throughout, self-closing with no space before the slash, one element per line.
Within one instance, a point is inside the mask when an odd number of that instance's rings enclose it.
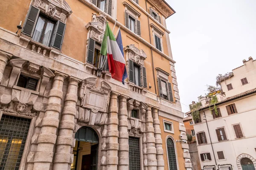
<path fill-rule="evenodd" d="M 173 127 L 174 127 L 174 134 L 173 133 L 168 133 L 164 131 L 164 125 L 163 125 L 163 120 L 167 120 L 173 123 Z M 167 136 L 172 136 L 176 145 L 176 150 L 177 150 L 177 158 L 178 158 L 178 164 L 179 164 L 179 170 L 185 170 L 185 164 L 184 164 L 184 158 L 183 158 L 183 149 L 181 148 L 181 144 L 180 142 L 176 142 L 176 140 L 180 140 L 180 130 L 179 130 L 179 122 L 172 120 L 172 119 L 168 119 L 166 117 L 162 117 L 159 116 L 159 121 L 160 121 L 160 129 L 161 129 L 161 137 L 163 140 L 163 160 L 165 163 L 164 169 L 165 170 L 169 170 L 168 169 L 168 154 L 166 151 L 166 137 Z"/>

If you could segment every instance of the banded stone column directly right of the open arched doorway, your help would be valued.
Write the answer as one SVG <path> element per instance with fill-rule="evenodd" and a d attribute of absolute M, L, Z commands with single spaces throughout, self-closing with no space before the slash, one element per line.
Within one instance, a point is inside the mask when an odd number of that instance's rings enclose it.
<path fill-rule="evenodd" d="M 111 92 L 110 106 L 108 114 L 108 139 L 107 139 L 107 158 L 106 170 L 117 170 L 118 164 L 118 94 Z"/>

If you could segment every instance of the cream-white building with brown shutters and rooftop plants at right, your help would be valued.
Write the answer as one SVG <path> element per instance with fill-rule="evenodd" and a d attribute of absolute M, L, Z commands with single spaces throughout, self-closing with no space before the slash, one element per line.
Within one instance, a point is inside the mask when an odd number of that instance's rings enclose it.
<path fill-rule="evenodd" d="M 249 57 L 243 63 L 218 79 L 224 93 L 215 94 L 217 114 L 211 114 L 207 98 L 200 98 L 200 119 L 194 120 L 194 128 L 204 170 L 256 168 L 256 61 Z"/>

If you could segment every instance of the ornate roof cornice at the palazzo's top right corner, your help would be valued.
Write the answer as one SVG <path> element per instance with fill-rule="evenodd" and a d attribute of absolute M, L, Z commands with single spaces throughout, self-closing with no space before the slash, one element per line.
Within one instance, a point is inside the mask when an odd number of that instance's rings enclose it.
<path fill-rule="evenodd" d="M 152 6 L 157 8 L 165 18 L 170 17 L 175 11 L 164 0 L 148 0 Z"/>

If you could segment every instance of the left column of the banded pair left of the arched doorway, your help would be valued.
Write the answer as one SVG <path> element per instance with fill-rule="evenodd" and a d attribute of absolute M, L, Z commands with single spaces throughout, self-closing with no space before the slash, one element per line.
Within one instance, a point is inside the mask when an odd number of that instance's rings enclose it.
<path fill-rule="evenodd" d="M 33 170 L 49 170 L 53 158 L 53 147 L 56 142 L 56 131 L 59 125 L 59 113 L 61 112 L 62 87 L 65 76 L 55 73 L 52 89 L 42 119 L 41 133 L 38 136 L 38 147 L 34 158 Z"/>

